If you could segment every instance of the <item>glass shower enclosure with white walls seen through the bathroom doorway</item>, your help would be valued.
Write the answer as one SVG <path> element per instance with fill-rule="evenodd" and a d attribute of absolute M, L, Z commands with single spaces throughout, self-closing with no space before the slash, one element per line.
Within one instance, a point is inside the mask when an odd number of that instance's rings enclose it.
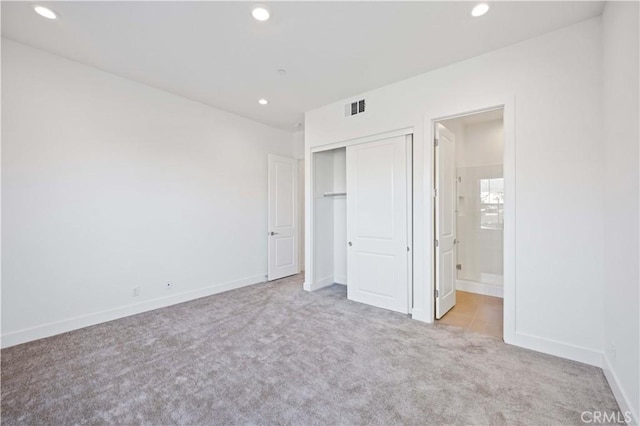
<path fill-rule="evenodd" d="M 456 290 L 503 297 L 502 109 L 441 123 L 455 136 Z"/>

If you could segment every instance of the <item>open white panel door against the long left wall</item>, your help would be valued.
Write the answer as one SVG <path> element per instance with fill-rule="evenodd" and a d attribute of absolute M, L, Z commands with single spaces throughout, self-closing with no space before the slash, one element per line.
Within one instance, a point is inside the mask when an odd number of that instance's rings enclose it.
<path fill-rule="evenodd" d="M 269 281 L 298 273 L 298 164 L 269 155 Z"/>

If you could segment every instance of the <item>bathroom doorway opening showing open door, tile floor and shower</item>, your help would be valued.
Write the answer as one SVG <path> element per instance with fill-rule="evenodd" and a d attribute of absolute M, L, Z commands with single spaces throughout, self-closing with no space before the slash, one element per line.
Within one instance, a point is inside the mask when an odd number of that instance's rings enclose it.
<path fill-rule="evenodd" d="M 435 319 L 502 338 L 503 109 L 435 126 Z"/>

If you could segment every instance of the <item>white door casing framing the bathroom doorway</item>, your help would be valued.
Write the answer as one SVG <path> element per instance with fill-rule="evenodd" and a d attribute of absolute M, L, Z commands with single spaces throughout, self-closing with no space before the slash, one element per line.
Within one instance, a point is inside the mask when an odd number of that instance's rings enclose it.
<path fill-rule="evenodd" d="M 434 208 L 435 200 L 429 192 L 434 188 L 434 150 L 435 124 L 439 121 L 458 118 L 466 115 L 487 112 L 491 110 L 503 110 L 504 125 L 504 152 L 503 174 L 505 182 L 504 202 L 504 329 L 503 340 L 506 343 L 515 344 L 516 338 L 516 140 L 515 140 L 515 97 L 497 96 L 482 101 L 456 100 L 455 105 L 434 105 L 424 116 L 424 188 L 425 198 L 429 201 L 423 211 L 427 241 L 434 241 L 435 229 Z M 427 192 L 428 191 L 428 192 Z M 417 294 L 414 300 L 413 318 L 433 323 L 435 319 L 435 274 L 434 259 L 435 248 L 433 244 L 425 244 L 425 256 L 423 263 L 424 293 Z M 416 286 L 418 289 L 420 286 Z"/>

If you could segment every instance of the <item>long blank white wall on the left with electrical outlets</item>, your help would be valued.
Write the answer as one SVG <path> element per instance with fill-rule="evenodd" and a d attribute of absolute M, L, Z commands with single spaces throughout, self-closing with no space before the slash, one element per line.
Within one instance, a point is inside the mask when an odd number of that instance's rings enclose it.
<path fill-rule="evenodd" d="M 5 39 L 2 74 L 3 346 L 264 280 L 291 133 Z"/>

